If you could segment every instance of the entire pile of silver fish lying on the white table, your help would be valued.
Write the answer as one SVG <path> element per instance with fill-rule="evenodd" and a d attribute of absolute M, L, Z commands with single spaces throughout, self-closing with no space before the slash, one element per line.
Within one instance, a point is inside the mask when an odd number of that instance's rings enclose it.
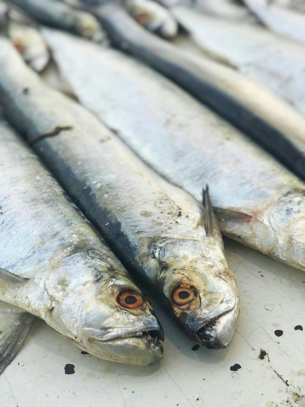
<path fill-rule="evenodd" d="M 225 348 L 221 233 L 305 271 L 304 7 L 244 3 L 0 2 L 0 372 L 35 316 L 96 357 L 157 362 L 133 278 Z"/>

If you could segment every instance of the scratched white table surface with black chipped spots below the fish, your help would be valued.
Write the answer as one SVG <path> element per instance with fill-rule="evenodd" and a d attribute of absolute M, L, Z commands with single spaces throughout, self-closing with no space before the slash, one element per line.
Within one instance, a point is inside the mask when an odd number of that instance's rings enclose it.
<path fill-rule="evenodd" d="M 228 239 L 225 245 L 241 297 L 237 330 L 227 349 L 192 350 L 195 342 L 149 293 L 166 335 L 163 359 L 153 366 L 81 354 L 37 319 L 0 376 L 0 406 L 304 407 L 305 273 Z M 304 330 L 295 330 L 297 325 Z M 283 335 L 277 337 L 275 330 Z M 268 353 L 263 360 L 261 349 Z M 75 366 L 74 374 L 65 374 L 68 363 Z M 235 363 L 241 368 L 233 372 Z"/>

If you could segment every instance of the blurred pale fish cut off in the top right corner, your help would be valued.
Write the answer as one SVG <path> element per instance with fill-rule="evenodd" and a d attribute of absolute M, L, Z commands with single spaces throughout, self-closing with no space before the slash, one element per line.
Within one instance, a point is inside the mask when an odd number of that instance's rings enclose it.
<path fill-rule="evenodd" d="M 305 44 L 305 15 L 299 11 L 270 4 L 269 0 L 244 0 L 259 20 L 279 35 Z"/>

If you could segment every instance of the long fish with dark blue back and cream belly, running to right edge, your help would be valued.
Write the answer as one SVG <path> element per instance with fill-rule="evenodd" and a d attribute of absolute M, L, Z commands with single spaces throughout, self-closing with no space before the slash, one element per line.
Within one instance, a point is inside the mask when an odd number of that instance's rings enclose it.
<path fill-rule="evenodd" d="M 305 180 L 304 118 L 277 94 L 232 67 L 156 37 L 118 6 L 105 4 L 91 12 L 102 22 L 113 46 L 190 92 Z"/>

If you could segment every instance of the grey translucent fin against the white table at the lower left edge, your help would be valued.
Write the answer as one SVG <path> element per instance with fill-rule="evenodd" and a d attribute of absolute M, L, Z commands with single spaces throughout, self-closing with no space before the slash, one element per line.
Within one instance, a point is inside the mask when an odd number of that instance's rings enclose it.
<path fill-rule="evenodd" d="M 34 319 L 35 315 L 0 301 L 0 374 L 22 347 Z"/>

